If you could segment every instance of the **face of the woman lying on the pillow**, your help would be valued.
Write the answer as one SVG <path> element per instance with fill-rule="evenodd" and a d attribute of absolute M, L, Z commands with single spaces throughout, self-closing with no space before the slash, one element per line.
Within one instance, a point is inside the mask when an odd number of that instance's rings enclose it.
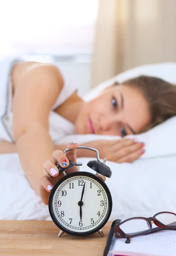
<path fill-rule="evenodd" d="M 148 103 L 135 87 L 116 85 L 106 88 L 79 111 L 77 134 L 139 134 L 150 124 Z"/>

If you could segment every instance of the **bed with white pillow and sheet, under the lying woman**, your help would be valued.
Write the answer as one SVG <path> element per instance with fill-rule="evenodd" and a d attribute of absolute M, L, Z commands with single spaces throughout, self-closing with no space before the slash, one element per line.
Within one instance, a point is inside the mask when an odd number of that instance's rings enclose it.
<path fill-rule="evenodd" d="M 99 84 L 85 95 L 88 101 L 103 88 L 114 81 L 123 81 L 138 75 L 151 75 L 176 84 L 176 63 L 150 64 L 127 70 L 108 81 Z M 146 153 L 133 163 L 114 163 L 107 161 L 112 169 L 112 177 L 106 183 L 113 198 L 110 221 L 115 218 L 153 216 L 159 211 L 176 209 L 176 116 L 143 134 L 136 134 L 146 143 Z M 114 140 L 117 136 L 96 134 L 68 135 L 58 138 L 60 143 L 78 143 L 97 140 Z M 89 158 L 78 158 L 85 171 Z M 1 220 L 51 220 L 48 206 L 35 194 L 17 154 L 0 154 L 0 219 Z"/>

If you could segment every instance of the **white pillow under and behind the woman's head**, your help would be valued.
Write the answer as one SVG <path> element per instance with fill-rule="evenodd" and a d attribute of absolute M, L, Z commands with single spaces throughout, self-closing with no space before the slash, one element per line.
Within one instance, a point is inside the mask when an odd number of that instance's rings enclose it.
<path fill-rule="evenodd" d="M 127 70 L 114 76 L 111 79 L 99 84 L 97 87 L 93 88 L 87 95 L 85 95 L 84 100 L 89 101 L 93 99 L 97 94 L 105 87 L 110 86 L 114 81 L 122 82 L 126 79 L 133 78 L 139 75 L 156 76 L 161 79 L 165 79 L 168 82 L 176 84 L 176 62 L 166 62 L 158 64 L 143 65 L 135 67 L 133 69 Z M 176 116 L 166 120 L 160 125 L 150 129 L 149 131 L 136 134 L 128 137 L 135 137 L 139 141 L 146 144 L 145 154 L 141 158 L 151 158 L 151 157 L 162 157 L 168 155 L 176 154 Z M 94 135 L 94 136 L 93 136 Z M 73 138 L 73 137 L 72 137 Z M 87 138 L 87 140 L 86 140 Z M 98 139 L 119 139 L 119 136 L 105 136 L 92 134 L 91 136 L 80 137 L 79 135 L 74 135 L 74 139 L 81 143 L 81 140 L 98 140 Z"/>

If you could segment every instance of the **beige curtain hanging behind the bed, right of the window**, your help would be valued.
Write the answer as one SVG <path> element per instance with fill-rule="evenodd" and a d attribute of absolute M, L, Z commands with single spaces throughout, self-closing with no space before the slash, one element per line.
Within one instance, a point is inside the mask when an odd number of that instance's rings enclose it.
<path fill-rule="evenodd" d="M 176 61 L 176 0 L 99 0 L 93 87 L 143 64 Z"/>

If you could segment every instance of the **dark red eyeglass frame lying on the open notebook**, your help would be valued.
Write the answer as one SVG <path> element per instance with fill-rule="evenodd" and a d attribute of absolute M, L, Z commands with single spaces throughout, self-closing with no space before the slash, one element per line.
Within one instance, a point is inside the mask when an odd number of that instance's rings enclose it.
<path fill-rule="evenodd" d="M 150 218 L 145 218 L 145 217 L 128 218 L 125 221 L 122 221 L 118 226 L 116 226 L 114 228 L 114 233 L 115 233 L 116 238 L 131 238 L 131 237 L 135 237 L 135 236 L 146 235 L 148 233 L 155 233 L 155 232 L 162 231 L 162 230 L 174 230 L 174 229 L 176 229 L 176 225 L 175 226 L 168 226 L 168 225 L 162 224 L 162 222 L 160 222 L 156 219 L 156 216 L 161 214 L 161 213 L 171 213 L 171 214 L 176 216 L 176 213 L 174 213 L 174 212 L 158 212 L 153 217 L 150 217 Z M 127 222 L 127 221 L 130 221 L 132 219 L 133 220 L 134 219 L 143 219 L 143 220 L 147 221 L 148 224 L 150 225 L 150 229 L 149 230 L 144 230 L 143 232 L 139 231 L 139 232 L 131 233 L 131 235 L 126 234 L 125 232 L 123 232 L 121 230 L 120 225 Z M 152 228 L 151 221 L 153 221 L 154 224 L 157 226 L 156 228 Z"/>

